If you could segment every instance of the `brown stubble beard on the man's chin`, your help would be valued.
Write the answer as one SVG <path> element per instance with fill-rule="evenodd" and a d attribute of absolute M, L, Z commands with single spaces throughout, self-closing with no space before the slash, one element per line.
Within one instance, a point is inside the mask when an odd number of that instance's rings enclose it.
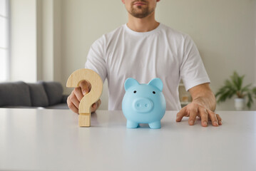
<path fill-rule="evenodd" d="M 138 6 L 137 8 L 133 7 L 133 3 L 130 4 L 130 14 L 134 16 L 135 18 L 145 18 L 146 16 L 149 16 L 150 14 L 153 13 L 154 9 L 149 9 L 149 6 L 143 7 L 143 6 Z"/>

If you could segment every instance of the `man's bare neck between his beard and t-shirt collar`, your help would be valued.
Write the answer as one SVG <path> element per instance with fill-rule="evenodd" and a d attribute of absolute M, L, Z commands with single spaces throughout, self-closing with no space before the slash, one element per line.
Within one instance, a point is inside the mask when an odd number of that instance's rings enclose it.
<path fill-rule="evenodd" d="M 133 31 L 147 32 L 157 28 L 159 23 L 155 21 L 155 12 L 143 19 L 135 18 L 134 16 L 128 14 L 127 26 Z"/>

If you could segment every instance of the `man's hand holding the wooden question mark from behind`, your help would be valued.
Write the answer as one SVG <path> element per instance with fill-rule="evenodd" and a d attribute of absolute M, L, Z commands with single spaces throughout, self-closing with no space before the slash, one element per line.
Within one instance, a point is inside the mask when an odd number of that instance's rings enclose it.
<path fill-rule="evenodd" d="M 74 88 L 71 95 L 68 96 L 68 108 L 70 108 L 74 113 L 78 113 L 80 101 L 82 100 L 84 95 L 90 92 L 90 90 L 91 84 L 87 81 L 81 81 L 79 83 L 79 87 Z M 91 106 L 91 113 L 95 112 L 100 105 L 101 99 L 99 99 L 96 103 L 93 103 L 93 105 Z"/>

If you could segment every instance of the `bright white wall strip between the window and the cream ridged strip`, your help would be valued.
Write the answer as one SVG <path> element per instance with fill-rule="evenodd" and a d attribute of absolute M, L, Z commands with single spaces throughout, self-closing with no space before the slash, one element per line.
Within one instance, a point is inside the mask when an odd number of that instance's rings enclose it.
<path fill-rule="evenodd" d="M 36 0 L 11 0 L 11 81 L 36 81 Z"/>

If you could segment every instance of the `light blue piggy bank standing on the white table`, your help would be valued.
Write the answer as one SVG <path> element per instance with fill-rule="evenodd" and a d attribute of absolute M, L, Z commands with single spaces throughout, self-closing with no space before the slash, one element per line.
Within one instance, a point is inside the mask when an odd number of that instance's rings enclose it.
<path fill-rule="evenodd" d="M 148 123 L 150 128 L 161 128 L 160 120 L 165 115 L 166 102 L 160 78 L 154 78 L 148 84 L 128 78 L 124 87 L 126 94 L 122 110 L 127 119 L 126 127 L 138 128 L 139 123 Z"/>

